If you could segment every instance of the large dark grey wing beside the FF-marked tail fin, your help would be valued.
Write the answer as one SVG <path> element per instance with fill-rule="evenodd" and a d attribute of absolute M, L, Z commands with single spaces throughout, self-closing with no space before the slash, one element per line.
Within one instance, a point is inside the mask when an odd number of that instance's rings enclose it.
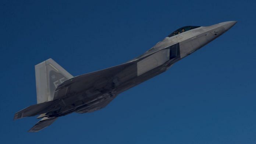
<path fill-rule="evenodd" d="M 120 75 L 120 73 L 124 69 L 132 66 L 133 68 L 131 68 L 131 73 L 136 76 L 136 65 L 134 65 L 136 61 L 137 60 L 134 60 L 100 71 L 86 73 L 66 80 L 56 88 L 54 99 L 59 99 L 65 96 L 72 96 L 72 94 L 82 93 L 86 90 L 91 89 L 92 87 L 95 90 L 101 88 L 108 89 L 108 87 L 111 87 L 111 83 L 113 83 L 113 78 L 115 78 L 115 76 L 117 75 Z"/>

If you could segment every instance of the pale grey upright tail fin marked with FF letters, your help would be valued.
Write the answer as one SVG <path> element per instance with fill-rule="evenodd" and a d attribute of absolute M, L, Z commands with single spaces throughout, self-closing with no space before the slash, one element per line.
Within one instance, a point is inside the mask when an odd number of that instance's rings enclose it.
<path fill-rule="evenodd" d="M 73 78 L 64 68 L 53 59 L 48 59 L 35 65 L 36 99 L 37 103 L 53 100 L 54 91 L 58 85 Z"/>

